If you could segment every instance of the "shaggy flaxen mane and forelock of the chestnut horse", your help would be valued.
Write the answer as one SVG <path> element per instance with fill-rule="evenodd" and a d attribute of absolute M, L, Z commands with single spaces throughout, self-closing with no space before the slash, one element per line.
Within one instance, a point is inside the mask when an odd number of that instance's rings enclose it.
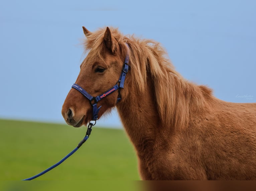
<path fill-rule="evenodd" d="M 134 35 L 126 37 L 117 28 L 111 27 L 110 30 L 116 53 L 125 58 L 129 51 L 130 82 L 137 92 L 145 90 L 147 76 L 151 76 L 161 123 L 172 127 L 186 126 L 189 114 L 195 110 L 200 111 L 206 105 L 207 100 L 212 97 L 212 90 L 183 79 L 174 70 L 160 43 Z M 91 33 L 85 41 L 85 50 L 90 50 L 92 55 L 103 61 L 102 53 L 106 51 L 103 40 L 105 31 L 105 28 L 101 28 Z M 129 49 L 125 43 L 129 45 Z"/>

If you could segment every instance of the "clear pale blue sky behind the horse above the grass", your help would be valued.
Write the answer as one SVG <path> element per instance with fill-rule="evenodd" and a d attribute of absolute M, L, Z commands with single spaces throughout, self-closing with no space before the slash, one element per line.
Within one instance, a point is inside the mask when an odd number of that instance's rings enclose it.
<path fill-rule="evenodd" d="M 256 102 L 256 1 L 0 1 L 0 118 L 65 123 L 84 59 L 82 26 L 162 44 L 175 69 L 219 99 Z M 122 127 L 118 113 L 97 124 Z"/>

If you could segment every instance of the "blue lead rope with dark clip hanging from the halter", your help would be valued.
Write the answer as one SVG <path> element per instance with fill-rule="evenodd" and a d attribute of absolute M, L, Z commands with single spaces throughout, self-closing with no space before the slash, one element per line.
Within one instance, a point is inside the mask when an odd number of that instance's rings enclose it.
<path fill-rule="evenodd" d="M 56 164 L 54 164 L 51 167 L 47 168 L 46 170 L 40 172 L 39 174 L 37 174 L 35 176 L 32 176 L 30 178 L 27 178 L 27 179 L 23 179 L 23 180 L 33 180 L 33 179 L 35 179 L 35 178 L 45 174 L 46 172 L 50 171 L 51 169 L 55 168 L 56 166 L 60 165 L 62 162 L 64 162 L 67 158 L 69 158 L 72 154 L 74 154 L 82 146 L 82 144 L 84 144 L 84 142 L 89 138 L 89 136 L 91 134 L 91 131 L 92 131 L 92 126 L 93 125 L 95 125 L 95 123 L 94 124 L 89 123 L 88 129 L 87 129 L 87 132 L 86 132 L 86 135 L 85 135 L 85 138 L 83 138 L 83 140 L 81 140 L 80 143 L 78 143 L 78 146 L 73 151 L 71 151 L 67 156 L 65 156 L 59 162 L 57 162 Z"/>

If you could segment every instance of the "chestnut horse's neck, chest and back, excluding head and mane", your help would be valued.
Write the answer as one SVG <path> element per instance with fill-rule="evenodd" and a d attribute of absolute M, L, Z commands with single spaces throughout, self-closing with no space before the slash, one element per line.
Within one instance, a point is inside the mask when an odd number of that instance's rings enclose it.
<path fill-rule="evenodd" d="M 150 87 L 117 105 L 142 179 L 256 179 L 256 103 L 205 97 L 206 105 L 197 112 L 191 108 L 187 126 L 178 129 L 161 124 Z"/>

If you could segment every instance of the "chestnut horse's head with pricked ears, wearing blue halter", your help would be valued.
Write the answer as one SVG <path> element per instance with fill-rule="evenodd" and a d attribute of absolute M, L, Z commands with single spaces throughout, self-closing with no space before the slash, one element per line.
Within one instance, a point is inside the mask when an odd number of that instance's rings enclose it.
<path fill-rule="evenodd" d="M 86 50 L 89 50 L 89 53 L 80 66 L 80 73 L 61 111 L 66 122 L 74 127 L 86 125 L 89 121 L 100 118 L 116 105 L 117 98 L 121 96 L 120 74 L 129 51 L 125 42 L 118 42 L 120 39 L 113 37 L 113 32 L 108 27 L 95 33 L 85 27 L 83 30 L 87 37 Z M 126 70 L 127 73 L 128 66 Z M 81 90 L 88 96 L 84 96 Z M 122 97 L 126 95 L 124 92 Z"/>

